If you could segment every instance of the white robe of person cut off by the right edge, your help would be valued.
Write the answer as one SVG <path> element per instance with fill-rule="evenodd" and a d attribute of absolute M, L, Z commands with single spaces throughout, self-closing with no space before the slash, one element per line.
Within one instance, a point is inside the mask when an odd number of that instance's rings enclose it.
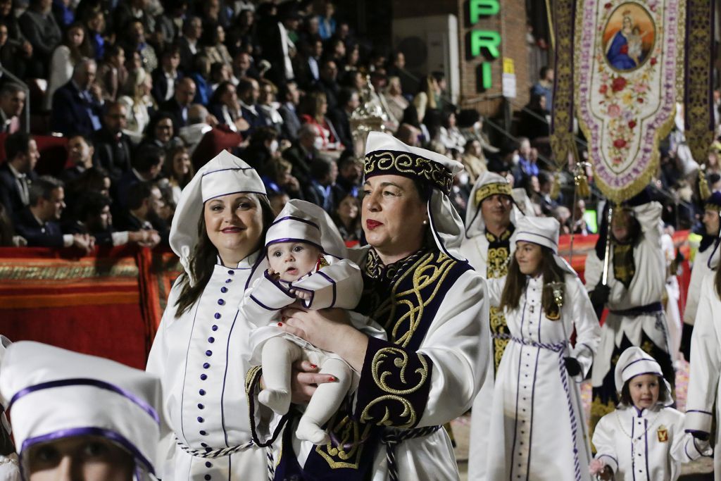
<path fill-rule="evenodd" d="M 721 419 L 721 300 L 715 291 L 715 274 L 711 271 L 704 278 L 696 311 L 694 335 L 691 336 L 691 371 L 685 424 L 688 430 L 704 431 L 712 437 L 714 402 L 716 419 Z M 721 481 L 721 429 L 718 425 L 715 437 L 714 479 Z"/>

